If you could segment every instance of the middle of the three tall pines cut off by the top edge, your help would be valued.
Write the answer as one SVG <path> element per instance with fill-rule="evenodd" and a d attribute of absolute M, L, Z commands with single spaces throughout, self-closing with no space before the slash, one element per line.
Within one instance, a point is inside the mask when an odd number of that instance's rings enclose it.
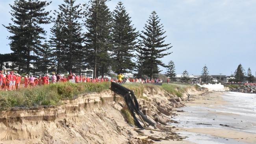
<path fill-rule="evenodd" d="M 80 4 L 74 5 L 75 2 L 76 0 L 64 0 L 65 4 L 59 5 L 60 12 L 57 12 L 57 15 L 61 16 L 60 20 L 63 24 L 60 30 L 63 40 L 61 46 L 64 47 L 60 54 L 66 71 L 81 72 L 82 68 L 85 68 L 81 63 L 85 57 L 85 48 L 82 46 L 84 37 L 80 22 L 83 18 L 83 11 Z M 58 33 L 58 31 L 53 32 Z"/>

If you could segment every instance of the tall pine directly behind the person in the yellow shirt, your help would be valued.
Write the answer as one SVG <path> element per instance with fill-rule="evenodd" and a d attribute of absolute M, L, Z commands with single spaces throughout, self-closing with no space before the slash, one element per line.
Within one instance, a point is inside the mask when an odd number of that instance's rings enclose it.
<path fill-rule="evenodd" d="M 138 32 L 133 28 L 129 14 L 126 12 L 122 2 L 119 2 L 113 12 L 112 42 L 113 59 L 112 66 L 116 73 L 131 72 L 134 69 L 134 48 Z"/>

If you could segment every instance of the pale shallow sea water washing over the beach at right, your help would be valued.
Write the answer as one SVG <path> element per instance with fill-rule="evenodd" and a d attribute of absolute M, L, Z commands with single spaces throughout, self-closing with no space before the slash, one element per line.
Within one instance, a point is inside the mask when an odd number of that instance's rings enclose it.
<path fill-rule="evenodd" d="M 184 128 L 224 128 L 234 129 L 256 134 L 256 94 L 246 94 L 240 92 L 224 92 L 223 99 L 227 103 L 220 106 L 188 106 L 180 110 L 184 113 L 174 116 L 173 119 L 179 124 L 171 124 Z M 201 125 L 209 124 L 209 125 Z M 182 135 L 189 136 L 191 141 L 195 142 L 196 137 L 193 133 L 183 132 Z M 198 135 L 197 135 L 198 136 Z M 200 135 L 200 139 L 210 138 L 210 135 Z M 188 140 L 189 140 L 188 138 Z M 221 138 L 219 139 L 221 140 Z M 201 144 L 198 140 L 196 143 Z M 212 142 L 211 142 L 212 143 Z M 214 144 L 231 144 L 228 142 L 216 142 Z M 242 144 L 240 142 L 239 144 Z"/>

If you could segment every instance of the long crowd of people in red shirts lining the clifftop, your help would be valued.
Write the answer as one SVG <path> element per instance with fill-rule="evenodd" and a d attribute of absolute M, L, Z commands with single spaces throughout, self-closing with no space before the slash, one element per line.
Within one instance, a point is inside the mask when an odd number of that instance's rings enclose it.
<path fill-rule="evenodd" d="M 102 83 L 107 81 L 113 81 L 113 82 L 139 82 L 139 83 L 158 83 L 162 82 L 161 79 L 137 79 L 137 78 L 123 78 L 122 74 L 118 74 L 117 79 L 109 79 L 109 78 L 89 78 L 85 77 L 82 74 L 76 75 L 70 73 L 68 76 L 61 76 L 60 74 L 55 74 L 52 72 L 52 76 L 50 77 L 48 74 L 40 75 L 37 77 L 34 77 L 33 75 L 26 74 L 23 78 L 12 71 L 7 72 L 7 74 L 2 74 L 2 71 L 0 71 L 0 90 L 15 90 L 19 89 L 20 85 L 22 85 L 24 88 L 27 87 L 35 87 L 36 85 L 48 85 L 51 83 L 58 83 L 58 82 L 73 82 L 73 83 L 81 83 L 81 82 L 87 82 L 87 83 Z M 167 80 L 168 82 L 168 80 Z"/>

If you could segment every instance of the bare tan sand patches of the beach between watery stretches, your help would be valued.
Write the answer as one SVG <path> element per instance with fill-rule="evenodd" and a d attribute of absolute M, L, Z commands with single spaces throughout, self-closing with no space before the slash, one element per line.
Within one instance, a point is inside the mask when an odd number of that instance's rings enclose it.
<path fill-rule="evenodd" d="M 221 118 L 224 118 L 226 116 L 231 116 L 231 117 L 239 116 L 238 114 L 214 111 L 215 109 L 218 109 L 219 107 L 222 107 L 223 105 L 227 105 L 229 103 L 228 101 L 224 100 L 223 96 L 221 96 L 224 94 L 228 94 L 228 92 L 207 92 L 202 95 L 193 96 L 193 98 L 191 99 L 193 101 L 184 102 L 186 107 L 182 107 L 180 109 L 192 109 L 194 107 L 204 107 L 205 109 L 206 108 L 210 109 L 210 110 L 207 110 L 208 117 L 216 116 L 216 115 Z M 193 111 L 193 110 L 191 110 L 191 111 Z M 183 112 L 183 113 L 177 112 L 176 114 L 182 116 L 187 113 L 185 110 L 185 112 Z M 234 119 L 236 119 L 236 118 L 234 118 Z M 209 125 L 210 124 L 211 123 L 209 123 Z M 235 140 L 237 143 L 239 143 L 239 142 L 241 142 L 241 143 L 245 142 L 245 143 L 250 143 L 250 144 L 256 143 L 256 134 L 255 133 L 249 133 L 249 132 L 245 132 L 242 130 L 231 129 L 230 127 L 211 127 L 211 126 L 197 127 L 196 124 L 194 124 L 194 126 L 193 126 L 193 124 L 188 125 L 188 126 L 191 126 L 191 127 L 178 126 L 178 127 L 176 127 L 175 132 L 176 133 L 183 133 L 183 132 L 196 133 L 198 135 L 206 134 L 206 135 L 210 135 L 212 137 L 226 138 L 227 141 Z M 186 141 L 184 141 L 182 144 L 191 144 L 190 141 L 187 142 L 187 139 L 184 139 L 184 140 L 186 140 Z M 177 142 L 177 143 L 173 142 L 173 143 L 180 144 L 180 142 Z M 165 143 L 159 143 L 159 144 L 165 144 Z"/>

